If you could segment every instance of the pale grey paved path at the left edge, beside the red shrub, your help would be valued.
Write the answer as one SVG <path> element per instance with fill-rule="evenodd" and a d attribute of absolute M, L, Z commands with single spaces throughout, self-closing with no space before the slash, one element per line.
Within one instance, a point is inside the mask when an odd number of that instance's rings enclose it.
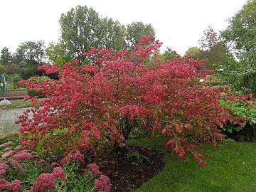
<path fill-rule="evenodd" d="M 17 130 L 19 125 L 15 124 L 14 121 L 18 119 L 18 116 L 23 114 L 26 108 L 1 110 L 0 109 L 0 130 Z"/>

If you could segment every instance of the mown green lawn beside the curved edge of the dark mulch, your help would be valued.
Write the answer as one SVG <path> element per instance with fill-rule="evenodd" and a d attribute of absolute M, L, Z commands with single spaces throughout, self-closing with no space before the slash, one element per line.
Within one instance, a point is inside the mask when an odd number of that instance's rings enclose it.
<path fill-rule="evenodd" d="M 151 147 L 157 145 L 146 143 Z M 164 169 L 136 192 L 256 191 L 256 142 L 230 142 L 204 148 L 210 154 L 207 167 L 193 159 L 186 163 L 164 150 Z"/>

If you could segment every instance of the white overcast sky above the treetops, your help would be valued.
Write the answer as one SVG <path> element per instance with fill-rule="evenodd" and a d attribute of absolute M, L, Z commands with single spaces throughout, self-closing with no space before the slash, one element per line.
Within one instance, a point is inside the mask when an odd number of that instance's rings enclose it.
<path fill-rule="evenodd" d="M 156 38 L 183 55 L 198 46 L 208 26 L 220 31 L 227 19 L 242 8 L 246 0 L 0 0 L 0 49 L 12 53 L 24 41 L 58 41 L 60 15 L 77 5 L 92 7 L 101 16 L 122 24 L 151 23 Z"/>

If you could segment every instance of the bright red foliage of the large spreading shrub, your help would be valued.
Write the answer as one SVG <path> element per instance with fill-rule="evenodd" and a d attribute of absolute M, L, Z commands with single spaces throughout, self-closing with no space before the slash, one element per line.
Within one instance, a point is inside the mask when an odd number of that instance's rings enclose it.
<path fill-rule="evenodd" d="M 41 85 L 26 81 L 28 88 L 38 87 L 46 98 L 16 122 L 21 124 L 21 134 L 30 134 L 22 144 L 34 149 L 46 134 L 45 149 L 65 148 L 66 154 L 106 140 L 119 144 L 126 138 L 123 122 L 136 121 L 143 129 L 168 137 L 166 146 L 178 157 L 191 151 L 204 165 L 197 152 L 200 142 L 215 144 L 223 139 L 218 127 L 234 117 L 220 107 L 220 94 L 206 82 L 199 82 L 210 73 L 198 69 L 203 61 L 177 56 L 167 63 L 157 60 L 154 66 L 144 65 L 161 46 L 151 39 L 144 36 L 134 50 L 124 48 L 117 53 L 91 48 L 90 53 L 82 53 L 91 62 L 86 65 L 80 66 L 81 61 L 76 60 L 62 68 L 38 68 L 46 74 L 58 72 L 59 80 L 46 80 Z M 53 134 L 55 129 L 66 128 L 64 134 Z"/>

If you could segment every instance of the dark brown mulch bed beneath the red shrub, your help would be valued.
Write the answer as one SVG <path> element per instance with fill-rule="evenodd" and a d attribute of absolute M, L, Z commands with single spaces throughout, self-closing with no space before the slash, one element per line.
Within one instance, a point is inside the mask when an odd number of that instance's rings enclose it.
<path fill-rule="evenodd" d="M 91 151 L 83 153 L 92 154 Z M 111 191 L 118 192 L 134 191 L 164 166 L 158 151 L 141 146 L 125 146 L 114 152 L 105 150 L 97 157 L 90 155 L 85 162 L 97 164 L 102 174 L 110 178 Z"/>

